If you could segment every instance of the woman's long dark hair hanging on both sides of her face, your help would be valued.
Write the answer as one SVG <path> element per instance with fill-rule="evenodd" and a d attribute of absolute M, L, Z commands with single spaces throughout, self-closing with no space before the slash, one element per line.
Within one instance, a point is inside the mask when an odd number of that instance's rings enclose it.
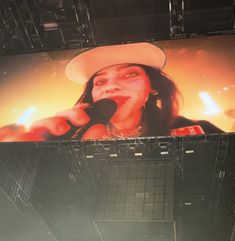
<path fill-rule="evenodd" d="M 181 95 L 174 82 L 162 71 L 146 65 L 135 65 L 144 69 L 150 79 L 152 89 L 157 91 L 157 95 L 149 95 L 142 110 L 143 136 L 169 135 L 178 114 Z M 94 103 L 92 99 L 94 76 L 87 82 L 77 103 Z"/>

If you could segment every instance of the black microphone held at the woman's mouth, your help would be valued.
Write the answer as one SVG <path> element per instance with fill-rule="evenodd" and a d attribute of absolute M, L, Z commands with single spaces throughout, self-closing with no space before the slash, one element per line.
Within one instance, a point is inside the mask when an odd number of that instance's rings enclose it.
<path fill-rule="evenodd" d="M 94 103 L 91 108 L 84 111 L 90 116 L 90 121 L 87 125 L 83 126 L 80 131 L 72 135 L 73 139 L 81 139 L 82 136 L 95 124 L 106 125 L 115 111 L 117 110 L 117 103 L 111 99 L 101 99 Z"/>

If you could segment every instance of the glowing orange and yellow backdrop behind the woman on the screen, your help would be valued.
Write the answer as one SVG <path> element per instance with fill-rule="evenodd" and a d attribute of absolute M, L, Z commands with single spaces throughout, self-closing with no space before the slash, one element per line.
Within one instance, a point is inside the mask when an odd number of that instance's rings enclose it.
<path fill-rule="evenodd" d="M 180 114 L 235 131 L 235 36 L 159 41 L 167 54 L 164 72 L 183 96 Z M 16 123 L 30 107 L 27 124 L 71 108 L 83 87 L 64 74 L 66 62 L 80 50 L 0 57 L 0 126 Z M 217 112 L 200 98 L 207 92 Z"/>

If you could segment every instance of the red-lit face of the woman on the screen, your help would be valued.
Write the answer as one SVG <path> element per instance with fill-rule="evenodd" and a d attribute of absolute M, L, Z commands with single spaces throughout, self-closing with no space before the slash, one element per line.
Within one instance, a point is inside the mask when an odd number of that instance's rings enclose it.
<path fill-rule="evenodd" d="M 92 98 L 96 102 L 108 98 L 118 109 L 112 121 L 123 121 L 141 115 L 141 110 L 151 90 L 144 69 L 133 64 L 118 64 L 98 71 L 93 78 Z"/>

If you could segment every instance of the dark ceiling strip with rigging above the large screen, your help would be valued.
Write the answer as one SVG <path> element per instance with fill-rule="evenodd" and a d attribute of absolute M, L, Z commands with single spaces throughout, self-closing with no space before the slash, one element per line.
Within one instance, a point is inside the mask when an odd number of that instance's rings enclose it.
<path fill-rule="evenodd" d="M 233 0 L 0 0 L 2 54 L 234 33 Z"/>

